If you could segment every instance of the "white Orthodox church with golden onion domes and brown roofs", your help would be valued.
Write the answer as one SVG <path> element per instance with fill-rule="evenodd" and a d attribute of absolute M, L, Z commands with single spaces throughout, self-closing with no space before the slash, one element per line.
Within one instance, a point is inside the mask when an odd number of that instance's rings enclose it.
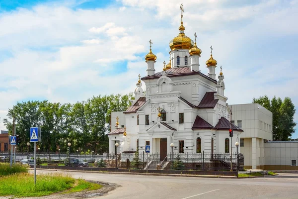
<path fill-rule="evenodd" d="M 140 77 L 134 91 L 135 100 L 125 112 L 112 114 L 116 125 L 108 134 L 111 153 L 145 151 L 160 154 L 160 160 L 171 153 L 230 153 L 232 146 L 229 129 L 233 130 L 234 142 L 243 132 L 230 123 L 231 111 L 224 96 L 224 75 L 217 77 L 217 61 L 206 61 L 208 75 L 200 71 L 201 49 L 184 33 L 183 5 L 178 35 L 169 42 L 170 60 L 163 70 L 155 71 L 156 55 L 151 49 L 145 56 L 147 76 Z M 143 81 L 143 82 L 142 82 Z M 145 83 L 145 90 L 142 86 Z M 121 124 L 119 125 L 119 117 Z M 113 119 L 112 118 L 112 121 Z M 115 120 L 114 120 L 115 121 Z M 118 144 L 116 144 L 118 143 Z M 115 147 L 119 145 L 119 147 Z"/>

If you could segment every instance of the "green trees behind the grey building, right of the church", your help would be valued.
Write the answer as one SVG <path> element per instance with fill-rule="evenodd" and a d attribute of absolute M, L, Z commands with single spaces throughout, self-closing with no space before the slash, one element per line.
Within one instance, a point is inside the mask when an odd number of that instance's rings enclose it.
<path fill-rule="evenodd" d="M 290 140 L 293 133 L 295 133 L 294 122 L 295 105 L 291 98 L 272 98 L 270 100 L 267 96 L 253 98 L 253 103 L 259 103 L 272 112 L 272 133 L 274 141 Z"/>

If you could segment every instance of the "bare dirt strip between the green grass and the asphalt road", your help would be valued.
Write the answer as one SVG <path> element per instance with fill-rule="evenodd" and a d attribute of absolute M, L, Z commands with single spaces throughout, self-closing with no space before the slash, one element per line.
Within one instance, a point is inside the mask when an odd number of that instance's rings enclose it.
<path fill-rule="evenodd" d="M 52 194 L 50 196 L 43 196 L 43 197 L 38 197 L 38 199 L 78 199 L 78 198 L 94 198 L 94 197 L 99 197 L 99 196 L 105 196 L 108 194 L 108 192 L 116 189 L 117 187 L 120 187 L 117 184 L 113 183 L 104 183 L 100 181 L 90 181 L 86 180 L 87 182 L 90 183 L 96 183 L 99 185 L 102 185 L 102 188 L 99 190 L 93 190 L 93 191 L 82 191 L 82 192 L 76 192 L 76 193 L 70 193 L 70 194 Z M 7 197 L 0 197 L 0 199 L 12 199 L 15 197 L 7 196 Z M 28 197 L 28 198 L 22 198 L 22 199 L 37 199 L 36 197 Z"/>

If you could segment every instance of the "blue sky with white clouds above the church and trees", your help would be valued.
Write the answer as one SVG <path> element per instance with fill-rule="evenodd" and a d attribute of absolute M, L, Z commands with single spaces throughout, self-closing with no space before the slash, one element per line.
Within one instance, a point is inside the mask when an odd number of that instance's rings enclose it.
<path fill-rule="evenodd" d="M 17 101 L 73 103 L 133 92 L 138 75 L 146 76 L 149 39 L 155 70 L 168 63 L 180 4 L 0 0 L 0 129 Z M 198 35 L 200 70 L 208 74 L 212 45 L 229 104 L 267 95 L 290 97 L 298 109 L 298 0 L 183 0 L 183 7 L 185 34 Z"/>

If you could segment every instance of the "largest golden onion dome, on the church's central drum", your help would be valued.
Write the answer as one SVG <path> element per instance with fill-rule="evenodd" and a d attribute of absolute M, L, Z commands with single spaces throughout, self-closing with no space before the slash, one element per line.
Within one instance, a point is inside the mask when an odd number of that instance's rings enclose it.
<path fill-rule="evenodd" d="M 179 27 L 178 36 L 174 37 L 169 43 L 171 50 L 176 49 L 187 49 L 189 50 L 194 46 L 194 41 L 187 37 L 184 33 L 185 27 L 183 26 L 183 22 L 181 22 L 181 26 Z"/>

